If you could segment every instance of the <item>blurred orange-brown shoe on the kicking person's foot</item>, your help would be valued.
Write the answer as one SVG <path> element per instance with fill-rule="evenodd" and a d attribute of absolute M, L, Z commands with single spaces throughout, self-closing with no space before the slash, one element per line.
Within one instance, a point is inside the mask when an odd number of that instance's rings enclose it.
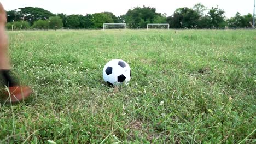
<path fill-rule="evenodd" d="M 26 100 L 32 93 L 32 89 L 27 86 L 14 86 L 5 89 L 4 95 L 8 98 L 8 103 L 17 103 Z"/>

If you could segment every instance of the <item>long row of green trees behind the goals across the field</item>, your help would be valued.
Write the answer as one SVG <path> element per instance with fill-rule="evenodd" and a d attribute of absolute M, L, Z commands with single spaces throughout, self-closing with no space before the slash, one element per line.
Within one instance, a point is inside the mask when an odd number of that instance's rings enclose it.
<path fill-rule="evenodd" d="M 115 16 L 111 12 L 86 15 L 53 14 L 42 8 L 25 7 L 7 11 L 7 28 L 36 29 L 100 29 L 103 23 L 127 23 L 128 28 L 146 28 L 148 23 L 169 23 L 170 28 L 222 28 L 222 27 L 254 27 L 252 14 L 226 19 L 225 11 L 218 7 L 207 9 L 201 3 L 193 8 L 178 8 L 173 15 L 156 13 L 156 8 L 136 7 L 126 14 Z M 21 27 L 22 26 L 22 27 Z"/>

